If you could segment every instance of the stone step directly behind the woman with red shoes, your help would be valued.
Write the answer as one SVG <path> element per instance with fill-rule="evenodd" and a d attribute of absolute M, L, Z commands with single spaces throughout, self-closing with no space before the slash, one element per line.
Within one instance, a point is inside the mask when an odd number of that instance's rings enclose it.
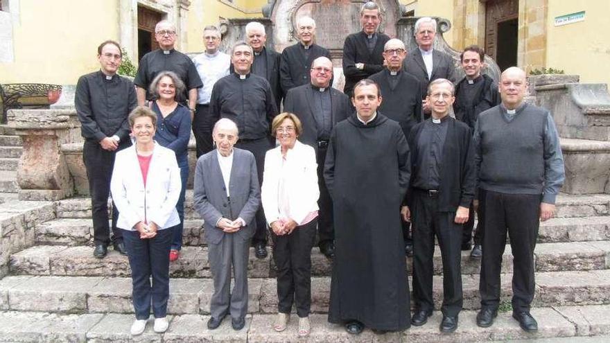
<path fill-rule="evenodd" d="M 58 214 L 60 211 L 62 209 L 58 207 Z M 202 222 L 201 219 L 184 221 L 183 245 L 206 244 Z M 37 242 L 42 244 L 82 245 L 93 242 L 93 222 L 90 218 L 59 218 L 40 225 L 36 231 Z M 542 222 L 539 229 L 539 243 L 594 240 L 610 240 L 610 216 L 553 218 Z"/>

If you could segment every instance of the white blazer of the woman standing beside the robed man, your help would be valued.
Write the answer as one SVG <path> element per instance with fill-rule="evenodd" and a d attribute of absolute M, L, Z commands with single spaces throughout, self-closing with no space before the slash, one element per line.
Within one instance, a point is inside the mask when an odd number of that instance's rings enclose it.
<path fill-rule="evenodd" d="M 286 153 L 286 166 L 282 169 L 281 146 L 269 150 L 265 155 L 265 171 L 261 186 L 261 201 L 267 222 L 280 219 L 279 180 L 281 173 L 288 173 L 288 207 L 290 219 L 300 224 L 309 213 L 317 211 L 320 188 L 317 185 L 317 163 L 315 150 L 299 141 Z"/>

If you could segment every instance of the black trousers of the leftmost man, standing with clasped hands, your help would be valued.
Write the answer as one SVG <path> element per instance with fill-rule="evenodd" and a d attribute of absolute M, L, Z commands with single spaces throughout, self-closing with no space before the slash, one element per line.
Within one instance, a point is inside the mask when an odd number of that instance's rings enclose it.
<path fill-rule="evenodd" d="M 131 141 L 121 141 L 118 150 L 131 146 Z M 82 161 L 87 170 L 89 179 L 89 194 L 91 195 L 91 216 L 93 218 L 94 243 L 108 245 L 110 240 L 110 226 L 108 225 L 108 195 L 110 195 L 110 179 L 114 168 L 116 151 L 104 150 L 100 143 L 86 140 L 82 146 Z M 116 228 L 119 219 L 119 210 L 112 202 L 112 237 L 113 243 L 123 240 L 123 231 Z"/>

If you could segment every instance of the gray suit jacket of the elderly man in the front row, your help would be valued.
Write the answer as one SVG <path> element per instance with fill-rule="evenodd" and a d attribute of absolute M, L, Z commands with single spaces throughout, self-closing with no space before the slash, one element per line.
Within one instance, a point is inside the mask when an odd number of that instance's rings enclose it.
<path fill-rule="evenodd" d="M 218 150 L 212 150 L 197 161 L 195 167 L 194 206 L 204 220 L 204 238 L 218 244 L 225 231 L 216 227 L 220 218 L 242 218 L 247 225 L 236 232 L 243 240 L 252 238 L 256 231 L 254 213 L 261 205 L 261 188 L 256 174 L 254 155 L 247 150 L 233 148 L 233 166 L 229 178 L 229 195 L 223 173 L 218 164 Z"/>

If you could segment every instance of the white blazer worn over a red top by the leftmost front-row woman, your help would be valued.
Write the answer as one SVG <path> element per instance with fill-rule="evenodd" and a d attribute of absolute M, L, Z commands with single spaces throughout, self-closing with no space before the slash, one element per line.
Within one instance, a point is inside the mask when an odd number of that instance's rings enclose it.
<path fill-rule="evenodd" d="M 138 161 L 136 146 L 116 153 L 110 191 L 119 209 L 116 226 L 134 231 L 138 222 L 154 222 L 159 229 L 180 224 L 176 203 L 182 182 L 173 150 L 155 142 L 150 159 L 146 187 Z"/>

